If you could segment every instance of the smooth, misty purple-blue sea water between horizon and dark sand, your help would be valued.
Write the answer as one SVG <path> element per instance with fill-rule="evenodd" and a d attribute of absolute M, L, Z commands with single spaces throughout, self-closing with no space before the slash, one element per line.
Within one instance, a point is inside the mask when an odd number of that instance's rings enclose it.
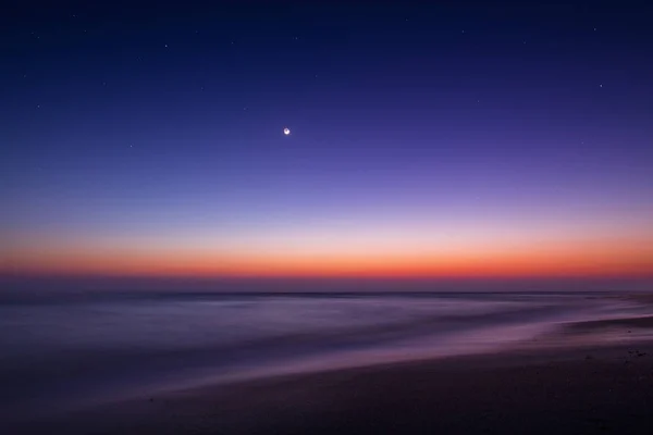
<path fill-rule="evenodd" d="M 206 382 L 493 351 L 651 313 L 603 294 L 138 294 L 0 304 L 0 417 Z"/>

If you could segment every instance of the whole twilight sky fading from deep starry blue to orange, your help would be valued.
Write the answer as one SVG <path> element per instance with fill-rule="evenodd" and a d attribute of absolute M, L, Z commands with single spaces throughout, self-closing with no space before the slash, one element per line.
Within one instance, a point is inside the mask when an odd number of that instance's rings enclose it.
<path fill-rule="evenodd" d="M 176 3 L 0 14 L 0 272 L 653 274 L 653 5 Z"/>

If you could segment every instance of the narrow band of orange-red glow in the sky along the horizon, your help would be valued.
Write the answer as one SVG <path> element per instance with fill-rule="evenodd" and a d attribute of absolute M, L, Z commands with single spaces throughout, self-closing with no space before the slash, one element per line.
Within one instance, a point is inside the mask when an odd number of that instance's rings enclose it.
<path fill-rule="evenodd" d="M 582 244 L 574 248 L 485 252 L 211 253 L 134 250 L 14 252 L 0 272 L 194 277 L 528 277 L 649 276 L 653 247 Z"/>

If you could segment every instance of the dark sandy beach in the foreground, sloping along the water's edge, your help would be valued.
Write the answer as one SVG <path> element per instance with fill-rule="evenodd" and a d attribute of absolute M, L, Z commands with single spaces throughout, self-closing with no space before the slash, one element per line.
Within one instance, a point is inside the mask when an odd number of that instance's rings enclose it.
<path fill-rule="evenodd" d="M 530 349 L 280 376 L 5 434 L 653 434 L 653 346 Z"/>

